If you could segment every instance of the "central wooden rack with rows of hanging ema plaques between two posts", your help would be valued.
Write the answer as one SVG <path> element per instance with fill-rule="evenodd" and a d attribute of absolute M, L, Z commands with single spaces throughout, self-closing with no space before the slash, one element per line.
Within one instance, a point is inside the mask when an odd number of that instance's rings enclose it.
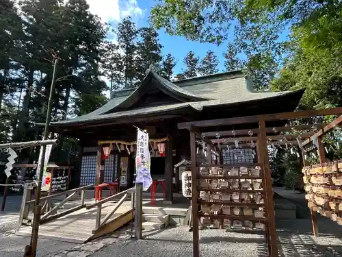
<path fill-rule="evenodd" d="M 257 142 L 259 162 L 228 165 L 199 164 L 196 159 L 197 145 L 194 132 L 190 132 L 190 143 L 194 257 L 200 256 L 200 227 L 263 230 L 269 256 L 278 256 L 272 182 L 270 173 L 267 174 L 265 171 L 261 145 Z"/>

